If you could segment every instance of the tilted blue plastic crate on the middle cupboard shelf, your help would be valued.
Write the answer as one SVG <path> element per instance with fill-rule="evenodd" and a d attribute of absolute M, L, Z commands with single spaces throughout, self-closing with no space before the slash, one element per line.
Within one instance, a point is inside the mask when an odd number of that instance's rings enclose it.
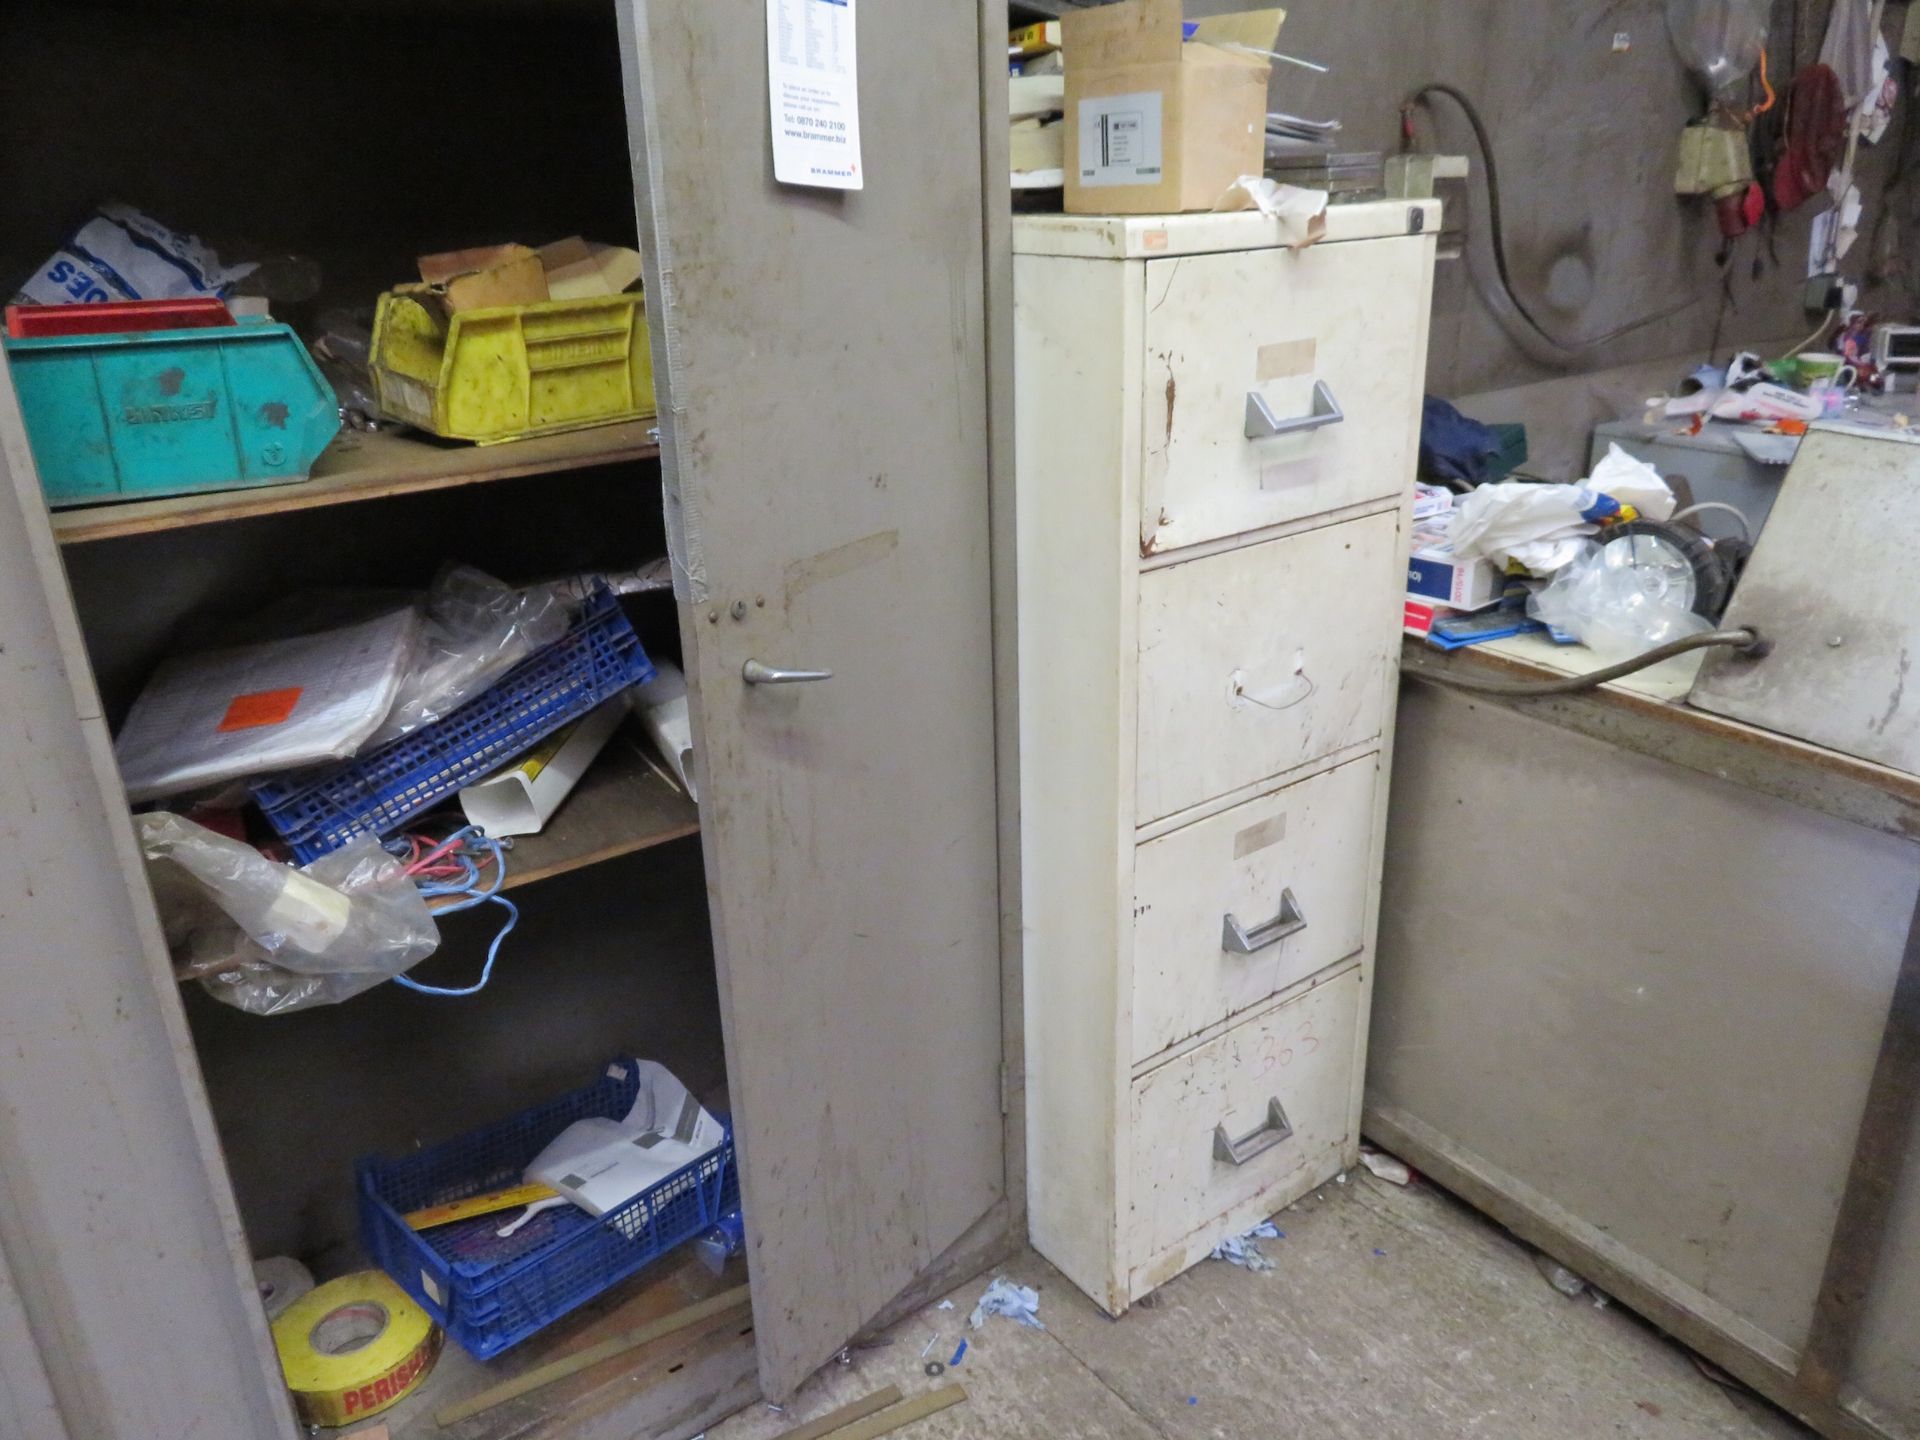
<path fill-rule="evenodd" d="M 338 764 L 253 783 L 253 799 L 307 864 L 357 835 L 388 835 L 509 764 L 628 685 L 653 660 L 607 586 L 595 586 L 564 637 L 520 660 L 484 695 L 411 735 Z"/>

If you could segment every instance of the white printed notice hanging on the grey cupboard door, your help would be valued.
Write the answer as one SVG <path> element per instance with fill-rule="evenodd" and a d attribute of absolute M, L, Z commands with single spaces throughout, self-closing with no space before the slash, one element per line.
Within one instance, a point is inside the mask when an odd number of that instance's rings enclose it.
<path fill-rule="evenodd" d="M 856 0 L 766 0 L 766 88 L 774 179 L 858 190 Z"/>

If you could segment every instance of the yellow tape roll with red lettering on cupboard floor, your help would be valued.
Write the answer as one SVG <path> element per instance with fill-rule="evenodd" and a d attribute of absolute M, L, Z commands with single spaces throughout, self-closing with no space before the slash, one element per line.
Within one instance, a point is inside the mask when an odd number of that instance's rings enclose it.
<path fill-rule="evenodd" d="M 273 1323 L 286 1388 L 307 1425 L 351 1425 L 405 1400 L 440 1356 L 440 1331 L 376 1269 L 342 1275 Z"/>

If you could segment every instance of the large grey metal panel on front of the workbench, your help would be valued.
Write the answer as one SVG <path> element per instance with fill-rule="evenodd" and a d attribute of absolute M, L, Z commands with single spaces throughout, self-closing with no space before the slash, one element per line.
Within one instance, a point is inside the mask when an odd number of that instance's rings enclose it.
<path fill-rule="evenodd" d="M 1797 1350 L 1920 849 L 1432 685 L 1400 726 L 1369 1106 Z"/>

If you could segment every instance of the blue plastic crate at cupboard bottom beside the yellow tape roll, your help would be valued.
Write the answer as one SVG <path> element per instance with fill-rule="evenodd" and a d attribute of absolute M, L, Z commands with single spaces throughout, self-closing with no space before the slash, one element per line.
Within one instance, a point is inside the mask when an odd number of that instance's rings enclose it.
<path fill-rule="evenodd" d="M 524 1110 L 405 1160 L 361 1160 L 361 1242 L 372 1261 L 419 1300 L 461 1346 L 490 1359 L 586 1304 L 641 1265 L 705 1235 L 739 1204 L 733 1127 L 691 1165 L 599 1219 L 574 1206 L 547 1210 L 501 1240 L 507 1215 L 413 1231 L 411 1210 L 520 1185 L 528 1162 L 576 1119 L 620 1119 L 639 1073 L 614 1060 L 584 1091 Z"/>

